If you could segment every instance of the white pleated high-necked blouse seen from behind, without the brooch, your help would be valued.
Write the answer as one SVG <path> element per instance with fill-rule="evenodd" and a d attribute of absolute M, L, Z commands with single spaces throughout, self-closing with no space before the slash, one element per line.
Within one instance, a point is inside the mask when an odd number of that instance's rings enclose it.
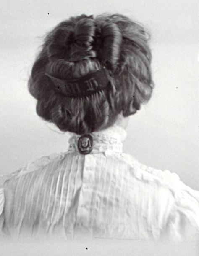
<path fill-rule="evenodd" d="M 1 177 L 2 236 L 181 240 L 199 234 L 199 191 L 123 154 L 121 127 L 90 135 L 89 154 L 80 153 L 80 136 L 73 135 L 67 152 Z"/>

